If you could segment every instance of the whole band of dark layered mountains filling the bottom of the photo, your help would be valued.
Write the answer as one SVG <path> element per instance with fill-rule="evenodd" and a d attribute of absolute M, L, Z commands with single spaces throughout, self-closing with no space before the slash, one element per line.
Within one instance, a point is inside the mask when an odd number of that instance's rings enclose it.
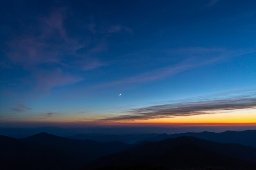
<path fill-rule="evenodd" d="M 76 136 L 94 136 L 107 142 L 45 132 L 22 139 L 0 135 L 0 169 L 256 170 L 256 148 L 252 147 L 255 133 L 256 130 Z"/>

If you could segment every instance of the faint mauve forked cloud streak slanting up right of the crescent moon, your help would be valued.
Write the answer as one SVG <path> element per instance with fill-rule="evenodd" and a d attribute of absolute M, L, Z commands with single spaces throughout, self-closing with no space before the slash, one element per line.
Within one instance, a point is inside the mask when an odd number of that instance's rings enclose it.
<path fill-rule="evenodd" d="M 186 60 L 169 67 L 159 68 L 154 71 L 141 73 L 132 77 L 125 79 L 120 79 L 113 82 L 108 82 L 95 86 L 95 88 L 116 86 L 119 84 L 132 84 L 132 83 L 143 83 L 150 82 L 157 79 L 162 79 L 171 75 L 176 75 L 180 72 L 190 70 L 192 68 L 197 68 L 200 66 L 206 66 L 216 62 L 220 62 L 228 57 L 236 57 L 245 55 L 247 53 L 255 52 L 254 49 L 238 49 L 238 50 L 227 50 L 218 48 L 182 48 L 182 49 L 168 49 L 166 53 L 168 55 L 175 56 L 186 56 Z"/>

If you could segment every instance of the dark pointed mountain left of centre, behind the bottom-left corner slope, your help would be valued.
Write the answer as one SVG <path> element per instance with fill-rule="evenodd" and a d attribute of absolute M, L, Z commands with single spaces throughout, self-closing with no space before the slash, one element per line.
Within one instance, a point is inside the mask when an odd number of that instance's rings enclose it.
<path fill-rule="evenodd" d="M 98 142 L 92 140 L 75 140 L 58 137 L 45 132 L 33 135 L 31 137 L 22 138 L 23 141 L 29 141 L 34 144 L 41 144 L 64 152 L 72 158 L 72 162 L 78 166 L 88 163 L 99 157 L 119 152 L 130 147 L 130 144 L 123 142 Z"/>

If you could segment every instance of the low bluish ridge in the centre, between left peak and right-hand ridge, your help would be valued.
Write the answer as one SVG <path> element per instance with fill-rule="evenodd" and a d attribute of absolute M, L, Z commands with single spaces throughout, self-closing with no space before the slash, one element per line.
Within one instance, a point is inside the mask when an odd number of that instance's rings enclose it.
<path fill-rule="evenodd" d="M 85 140 L 85 139 L 91 139 L 94 141 L 101 141 L 101 142 L 107 142 L 107 141 L 120 141 L 120 142 L 125 142 L 128 144 L 135 143 L 137 141 L 143 141 L 147 138 L 150 137 L 155 137 L 158 134 L 152 133 L 152 134 L 140 134 L 140 135 L 93 135 L 93 134 L 79 134 L 75 136 L 70 136 L 68 138 L 70 139 L 80 139 L 80 140 Z"/>

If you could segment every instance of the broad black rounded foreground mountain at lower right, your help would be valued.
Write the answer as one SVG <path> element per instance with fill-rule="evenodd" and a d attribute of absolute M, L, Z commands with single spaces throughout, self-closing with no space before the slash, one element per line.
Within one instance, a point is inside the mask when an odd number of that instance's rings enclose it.
<path fill-rule="evenodd" d="M 178 137 L 133 146 L 126 151 L 97 159 L 83 169 L 139 163 L 186 170 L 190 168 L 255 170 L 256 148 L 239 144 L 220 144 L 195 137 Z"/>

